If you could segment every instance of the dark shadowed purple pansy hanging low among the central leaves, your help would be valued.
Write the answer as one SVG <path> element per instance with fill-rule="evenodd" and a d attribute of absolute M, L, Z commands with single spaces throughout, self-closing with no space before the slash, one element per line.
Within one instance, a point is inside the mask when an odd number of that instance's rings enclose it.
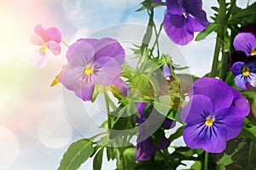
<path fill-rule="evenodd" d="M 140 117 L 136 116 L 137 122 L 139 124 L 143 123 L 146 118 L 144 116 L 144 107 L 147 105 L 146 102 L 137 103 L 137 111 L 140 114 Z M 172 120 L 166 118 L 165 121 L 165 129 L 169 129 L 171 127 L 175 126 L 175 122 Z M 145 139 L 145 136 L 148 136 L 148 138 Z M 137 137 L 137 146 L 136 146 L 136 156 L 135 159 L 137 161 L 147 161 L 154 156 L 154 153 L 156 150 L 164 150 L 171 144 L 169 139 L 166 139 L 165 134 L 163 133 L 160 143 L 154 144 L 154 141 L 150 134 L 148 133 L 148 130 L 144 126 L 139 127 L 139 134 Z"/>

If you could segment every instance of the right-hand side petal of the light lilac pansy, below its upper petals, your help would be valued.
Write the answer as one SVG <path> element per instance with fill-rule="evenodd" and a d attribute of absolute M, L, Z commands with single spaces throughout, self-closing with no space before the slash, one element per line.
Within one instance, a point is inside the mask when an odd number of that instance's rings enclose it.
<path fill-rule="evenodd" d="M 93 67 L 98 68 L 96 70 L 96 82 L 104 86 L 113 84 L 115 77 L 121 74 L 119 63 L 112 57 L 101 57 L 97 59 Z"/>

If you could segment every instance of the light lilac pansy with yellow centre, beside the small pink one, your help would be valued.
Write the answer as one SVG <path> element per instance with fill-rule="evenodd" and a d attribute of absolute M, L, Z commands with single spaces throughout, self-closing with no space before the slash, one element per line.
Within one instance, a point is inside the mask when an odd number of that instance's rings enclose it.
<path fill-rule="evenodd" d="M 67 49 L 68 64 L 63 66 L 59 79 L 79 98 L 91 100 L 96 83 L 117 87 L 125 84 L 120 79 L 124 60 L 124 48 L 112 38 L 79 39 Z"/>

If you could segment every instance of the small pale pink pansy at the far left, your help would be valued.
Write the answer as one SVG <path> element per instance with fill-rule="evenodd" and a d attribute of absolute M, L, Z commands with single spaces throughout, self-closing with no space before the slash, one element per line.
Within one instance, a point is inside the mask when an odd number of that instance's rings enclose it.
<path fill-rule="evenodd" d="M 48 63 L 47 48 L 54 55 L 61 53 L 61 46 L 59 44 L 61 42 L 61 31 L 55 27 L 49 27 L 44 30 L 41 25 L 37 25 L 34 32 L 31 41 L 33 44 L 41 46 L 41 48 L 36 50 L 32 63 L 38 68 L 43 68 Z"/>

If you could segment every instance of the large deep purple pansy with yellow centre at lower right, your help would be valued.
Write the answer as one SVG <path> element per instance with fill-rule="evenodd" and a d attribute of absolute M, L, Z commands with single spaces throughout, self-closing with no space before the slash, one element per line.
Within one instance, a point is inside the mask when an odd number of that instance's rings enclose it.
<path fill-rule="evenodd" d="M 225 82 L 204 77 L 189 88 L 189 103 L 183 107 L 187 125 L 183 139 L 191 149 L 219 153 L 226 141 L 241 132 L 243 118 L 250 112 L 247 100 Z"/>

